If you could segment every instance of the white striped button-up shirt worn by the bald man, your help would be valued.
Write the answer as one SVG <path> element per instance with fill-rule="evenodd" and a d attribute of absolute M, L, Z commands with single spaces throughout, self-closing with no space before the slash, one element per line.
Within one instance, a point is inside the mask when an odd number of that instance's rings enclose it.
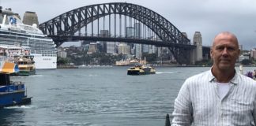
<path fill-rule="evenodd" d="M 171 126 L 248 126 L 256 121 L 256 81 L 235 72 L 223 99 L 211 70 L 191 76 L 175 99 Z M 255 123 L 256 124 L 256 123 Z"/>

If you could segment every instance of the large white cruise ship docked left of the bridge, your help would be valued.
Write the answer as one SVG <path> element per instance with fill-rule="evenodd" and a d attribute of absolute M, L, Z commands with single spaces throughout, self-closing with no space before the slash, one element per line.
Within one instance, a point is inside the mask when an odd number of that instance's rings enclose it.
<path fill-rule="evenodd" d="M 0 12 L 0 45 L 28 46 L 34 56 L 36 69 L 57 69 L 55 43 L 36 24 L 23 24 L 10 9 Z"/>

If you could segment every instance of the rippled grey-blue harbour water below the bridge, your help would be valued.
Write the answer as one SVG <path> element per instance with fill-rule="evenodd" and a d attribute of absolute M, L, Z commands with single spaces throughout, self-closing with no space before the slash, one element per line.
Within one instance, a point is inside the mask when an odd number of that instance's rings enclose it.
<path fill-rule="evenodd" d="M 164 126 L 188 76 L 209 67 L 157 67 L 127 76 L 128 67 L 37 70 L 24 81 L 31 105 L 0 109 L 0 125 Z M 238 69 L 238 68 L 237 68 Z M 244 68 L 253 71 L 254 67 Z"/>

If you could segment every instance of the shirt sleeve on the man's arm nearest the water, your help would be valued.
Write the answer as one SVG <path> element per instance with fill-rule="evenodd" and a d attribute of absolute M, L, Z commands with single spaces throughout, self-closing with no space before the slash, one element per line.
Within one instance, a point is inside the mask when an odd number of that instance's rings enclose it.
<path fill-rule="evenodd" d="M 193 108 L 190 100 L 187 80 L 183 83 L 177 98 L 175 99 L 173 119 L 171 126 L 187 126 L 193 121 Z"/>

